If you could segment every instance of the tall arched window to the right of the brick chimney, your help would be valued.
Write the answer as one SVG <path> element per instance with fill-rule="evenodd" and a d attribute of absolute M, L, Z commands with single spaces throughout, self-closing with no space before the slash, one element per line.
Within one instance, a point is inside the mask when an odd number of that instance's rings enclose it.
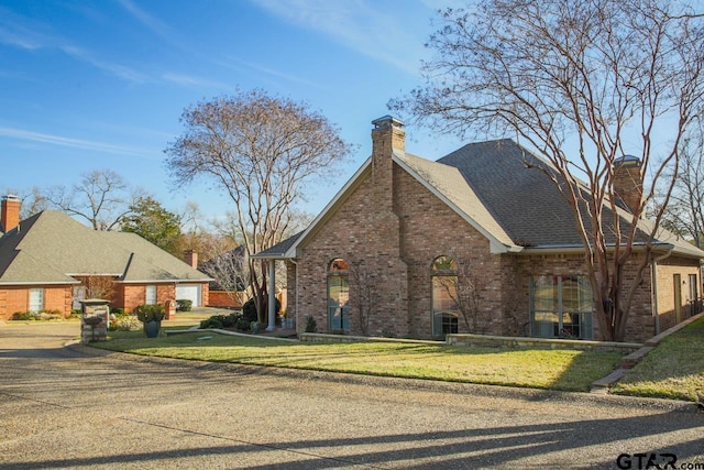
<path fill-rule="evenodd" d="M 458 332 L 458 264 L 450 256 L 432 262 L 432 336 Z"/>

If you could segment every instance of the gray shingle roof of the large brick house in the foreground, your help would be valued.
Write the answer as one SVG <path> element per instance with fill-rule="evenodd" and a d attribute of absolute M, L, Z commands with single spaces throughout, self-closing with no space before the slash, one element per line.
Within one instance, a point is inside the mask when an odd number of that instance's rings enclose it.
<path fill-rule="evenodd" d="M 437 162 L 408 153 L 394 154 L 394 161 L 484 233 L 493 247 L 501 247 L 499 251 L 583 245 L 572 208 L 543 173 L 553 171 L 550 164 L 510 139 L 468 144 Z M 336 201 L 355 187 L 355 178 L 364 177 L 369 164 L 367 160 L 305 232 L 255 256 L 294 256 L 296 245 L 305 243 L 316 225 L 324 223 L 324 212 L 334 210 Z M 628 230 L 630 215 L 619 209 L 619 216 L 622 230 Z M 608 208 L 604 209 L 603 219 L 605 223 L 613 220 Z M 588 223 L 585 220 L 587 230 Z M 641 220 L 638 228 L 636 243 L 644 243 L 651 225 Z M 613 243 L 609 232 L 605 230 L 606 242 Z M 674 252 L 683 255 L 704 258 L 704 251 L 663 229 L 658 231 L 654 243 L 671 244 Z"/>

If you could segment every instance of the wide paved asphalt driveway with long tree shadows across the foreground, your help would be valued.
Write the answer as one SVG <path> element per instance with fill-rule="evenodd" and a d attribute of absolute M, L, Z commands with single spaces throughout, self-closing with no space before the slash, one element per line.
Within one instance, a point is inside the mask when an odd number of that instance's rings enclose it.
<path fill-rule="evenodd" d="M 704 413 L 682 402 L 64 346 L 77 335 L 0 323 L 0 468 L 704 468 Z"/>

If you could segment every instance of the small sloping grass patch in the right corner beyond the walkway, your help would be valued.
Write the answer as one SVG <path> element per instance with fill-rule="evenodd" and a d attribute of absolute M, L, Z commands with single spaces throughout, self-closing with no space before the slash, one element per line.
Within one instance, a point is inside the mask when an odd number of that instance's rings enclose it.
<path fill-rule="evenodd" d="M 695 390 L 704 391 L 704 318 L 664 338 L 612 393 L 694 401 Z"/>

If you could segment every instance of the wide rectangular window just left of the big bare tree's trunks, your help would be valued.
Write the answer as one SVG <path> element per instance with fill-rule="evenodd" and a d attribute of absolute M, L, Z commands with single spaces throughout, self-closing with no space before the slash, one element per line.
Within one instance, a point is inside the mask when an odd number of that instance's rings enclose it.
<path fill-rule="evenodd" d="M 530 331 L 539 338 L 592 339 L 592 287 L 586 276 L 534 277 Z"/>

